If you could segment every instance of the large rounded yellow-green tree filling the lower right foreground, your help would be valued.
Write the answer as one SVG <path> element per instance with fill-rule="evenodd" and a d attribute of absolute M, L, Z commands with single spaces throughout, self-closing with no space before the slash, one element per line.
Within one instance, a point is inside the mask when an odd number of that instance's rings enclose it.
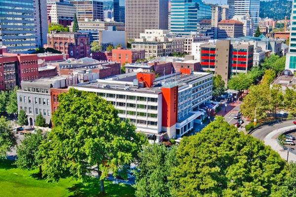
<path fill-rule="evenodd" d="M 184 137 L 176 157 L 169 177 L 174 197 L 278 197 L 288 174 L 275 151 L 219 116 Z"/>

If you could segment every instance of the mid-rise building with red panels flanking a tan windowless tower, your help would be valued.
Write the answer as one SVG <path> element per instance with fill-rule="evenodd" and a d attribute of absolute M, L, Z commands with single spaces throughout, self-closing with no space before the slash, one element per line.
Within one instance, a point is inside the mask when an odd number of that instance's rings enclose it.
<path fill-rule="evenodd" d="M 201 70 L 214 71 L 227 84 L 232 74 L 247 72 L 253 66 L 254 46 L 230 44 L 230 40 L 200 45 Z"/>

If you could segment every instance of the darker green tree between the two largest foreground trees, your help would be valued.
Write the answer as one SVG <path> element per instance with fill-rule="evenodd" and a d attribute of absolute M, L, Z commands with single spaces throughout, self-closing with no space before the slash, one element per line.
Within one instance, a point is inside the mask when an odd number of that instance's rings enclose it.
<path fill-rule="evenodd" d="M 176 166 L 176 147 L 149 144 L 140 153 L 136 197 L 171 197 L 168 176 Z"/>

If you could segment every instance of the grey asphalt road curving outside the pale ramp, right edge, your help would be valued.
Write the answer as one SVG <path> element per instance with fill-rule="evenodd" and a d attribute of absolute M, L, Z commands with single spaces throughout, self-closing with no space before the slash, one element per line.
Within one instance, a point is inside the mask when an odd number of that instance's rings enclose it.
<path fill-rule="evenodd" d="M 270 125 L 263 126 L 258 130 L 255 130 L 251 135 L 260 139 L 260 140 L 263 140 L 268 133 L 270 133 L 274 130 L 283 128 L 283 127 L 288 127 L 288 126 L 293 126 L 293 125 L 294 125 L 293 120 L 283 121 L 281 123 L 270 124 Z"/>

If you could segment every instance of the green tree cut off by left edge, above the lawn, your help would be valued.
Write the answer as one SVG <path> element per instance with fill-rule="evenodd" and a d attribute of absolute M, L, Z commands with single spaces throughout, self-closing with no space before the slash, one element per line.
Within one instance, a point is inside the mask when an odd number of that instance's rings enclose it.
<path fill-rule="evenodd" d="M 6 157 L 6 152 L 16 145 L 16 138 L 12 133 L 10 121 L 0 117 L 0 158 Z"/>

